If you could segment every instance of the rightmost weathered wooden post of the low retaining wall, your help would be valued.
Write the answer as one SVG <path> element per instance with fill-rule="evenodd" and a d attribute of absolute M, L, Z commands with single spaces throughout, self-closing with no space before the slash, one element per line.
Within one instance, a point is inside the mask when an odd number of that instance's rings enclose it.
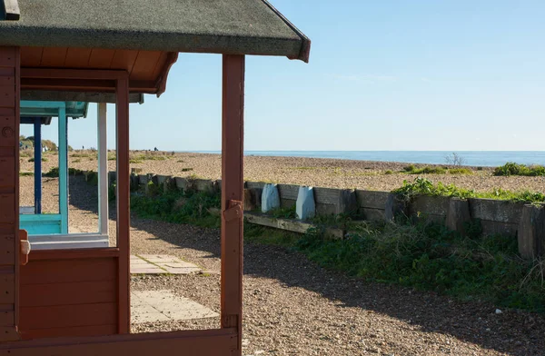
<path fill-rule="evenodd" d="M 545 208 L 524 205 L 519 223 L 519 253 L 522 258 L 533 259 L 545 254 Z"/>

